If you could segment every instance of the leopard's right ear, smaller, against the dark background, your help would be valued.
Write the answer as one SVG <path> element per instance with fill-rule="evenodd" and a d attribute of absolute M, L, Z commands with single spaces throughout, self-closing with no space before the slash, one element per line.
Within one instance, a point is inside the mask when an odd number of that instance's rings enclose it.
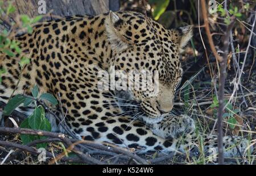
<path fill-rule="evenodd" d="M 193 36 L 193 26 L 180 27 L 171 30 L 172 40 L 179 45 L 179 52 L 183 52 L 183 48 Z"/>

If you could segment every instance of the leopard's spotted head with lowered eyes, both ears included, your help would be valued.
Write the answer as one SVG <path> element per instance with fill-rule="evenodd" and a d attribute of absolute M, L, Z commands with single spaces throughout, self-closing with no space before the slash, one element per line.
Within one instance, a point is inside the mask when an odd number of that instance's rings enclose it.
<path fill-rule="evenodd" d="M 192 37 L 192 26 L 166 30 L 138 12 L 110 11 L 106 35 L 115 52 L 111 60 L 115 71 L 134 72 L 135 77 L 128 78 L 135 83 L 145 72 L 151 72 L 151 80 L 154 80 L 154 89 L 146 86 L 147 90 L 131 88 L 127 81 L 127 86 L 123 87 L 126 90 L 117 91 L 119 102 L 133 104 L 130 107 L 134 107 L 135 118 L 140 116 L 147 123 L 162 120 L 174 106 L 175 91 L 183 73 L 180 53 Z M 122 108 L 124 111 L 131 109 Z"/>

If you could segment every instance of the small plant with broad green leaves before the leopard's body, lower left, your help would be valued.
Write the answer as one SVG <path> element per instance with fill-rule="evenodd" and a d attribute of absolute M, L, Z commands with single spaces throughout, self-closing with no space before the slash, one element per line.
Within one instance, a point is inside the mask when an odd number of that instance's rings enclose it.
<path fill-rule="evenodd" d="M 31 90 L 32 97 L 27 95 L 18 94 L 9 100 L 6 104 L 5 109 L 3 110 L 4 115 L 10 115 L 11 112 L 15 110 L 20 104 L 23 103 L 25 107 L 35 107 L 34 111 L 27 119 L 25 119 L 22 124 L 20 124 L 20 128 L 29 128 L 29 129 L 40 129 L 43 131 L 51 131 L 51 124 L 46 119 L 46 113 L 42 104 L 38 106 L 38 102 L 42 102 L 42 100 L 47 100 L 53 106 L 58 104 L 57 100 L 53 95 L 49 93 L 44 93 L 39 96 L 39 90 L 37 86 L 34 86 Z M 34 140 L 46 139 L 45 136 L 32 136 L 32 135 L 20 135 L 23 144 L 31 143 Z M 38 144 L 37 148 L 46 148 L 47 144 Z"/>

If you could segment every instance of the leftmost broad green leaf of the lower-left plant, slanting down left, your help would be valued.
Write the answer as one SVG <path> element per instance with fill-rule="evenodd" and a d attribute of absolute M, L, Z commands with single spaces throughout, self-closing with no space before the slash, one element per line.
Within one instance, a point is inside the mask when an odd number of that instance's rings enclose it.
<path fill-rule="evenodd" d="M 21 94 L 15 95 L 6 104 L 5 109 L 3 110 L 3 114 L 10 115 L 11 112 L 13 112 L 15 110 L 15 108 L 17 108 L 20 104 L 22 104 L 25 99 L 26 99 L 26 97 L 24 97 Z"/>

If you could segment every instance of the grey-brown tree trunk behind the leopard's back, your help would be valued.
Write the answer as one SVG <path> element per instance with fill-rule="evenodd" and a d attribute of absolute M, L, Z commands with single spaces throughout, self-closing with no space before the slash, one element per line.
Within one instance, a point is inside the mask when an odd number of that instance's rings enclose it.
<path fill-rule="evenodd" d="M 26 14 L 30 17 L 39 14 L 39 9 L 42 7 L 42 2 L 45 3 L 46 17 L 42 19 L 52 20 L 56 17 L 70 15 L 98 15 L 109 10 L 119 10 L 119 0 L 15 0 L 16 13 Z M 7 2 L 6 2 L 7 6 Z M 15 14 L 10 15 L 14 19 Z M 0 24 L 0 30 L 10 28 L 6 24 Z"/>

